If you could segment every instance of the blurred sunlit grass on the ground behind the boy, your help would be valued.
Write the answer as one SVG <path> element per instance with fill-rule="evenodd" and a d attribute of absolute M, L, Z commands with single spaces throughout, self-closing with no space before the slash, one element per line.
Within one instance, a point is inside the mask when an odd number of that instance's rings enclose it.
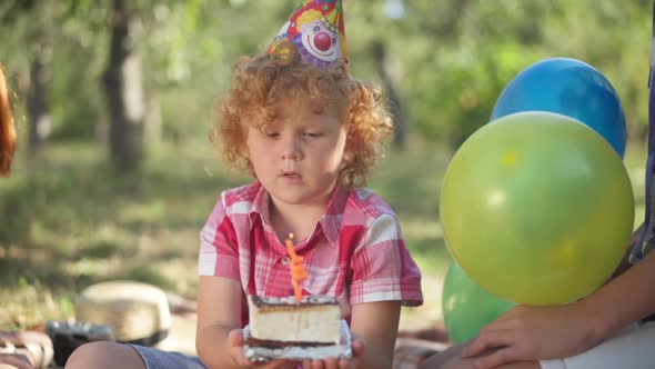
<path fill-rule="evenodd" d="M 643 219 L 643 146 L 626 167 Z M 403 310 L 406 329 L 439 325 L 450 257 L 439 225 L 439 191 L 450 154 L 414 140 L 389 151 L 369 187 L 396 210 L 423 272 L 426 303 Z M 224 169 L 204 142 L 162 143 L 141 176 L 118 176 L 95 143 L 20 152 L 0 180 L 0 329 L 33 328 L 74 315 L 75 295 L 110 279 L 133 279 L 193 298 L 198 232 L 219 192 L 248 178 Z"/>

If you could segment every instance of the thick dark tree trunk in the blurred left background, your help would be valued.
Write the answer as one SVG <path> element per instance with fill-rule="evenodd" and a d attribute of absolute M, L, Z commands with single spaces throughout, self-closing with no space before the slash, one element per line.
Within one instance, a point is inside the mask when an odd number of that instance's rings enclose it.
<path fill-rule="evenodd" d="M 141 60 L 135 50 L 140 23 L 131 6 L 130 0 L 113 0 L 109 63 L 103 76 L 111 160 L 127 171 L 140 169 L 143 162 L 145 123 Z"/>

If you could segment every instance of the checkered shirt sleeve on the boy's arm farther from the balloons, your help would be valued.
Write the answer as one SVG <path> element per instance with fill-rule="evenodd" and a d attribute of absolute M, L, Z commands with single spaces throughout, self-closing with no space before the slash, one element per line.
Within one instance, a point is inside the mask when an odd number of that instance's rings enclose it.
<path fill-rule="evenodd" d="M 198 275 L 239 280 L 238 245 L 234 226 L 225 212 L 224 198 L 221 196 L 200 231 Z"/>

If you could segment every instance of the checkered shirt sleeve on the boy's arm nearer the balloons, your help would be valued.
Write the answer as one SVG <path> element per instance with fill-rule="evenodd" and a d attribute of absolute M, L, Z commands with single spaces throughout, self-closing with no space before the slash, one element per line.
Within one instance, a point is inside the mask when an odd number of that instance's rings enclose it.
<path fill-rule="evenodd" d="M 423 303 L 421 271 L 403 241 L 395 216 L 373 218 L 352 258 L 351 303 L 396 301 Z"/>

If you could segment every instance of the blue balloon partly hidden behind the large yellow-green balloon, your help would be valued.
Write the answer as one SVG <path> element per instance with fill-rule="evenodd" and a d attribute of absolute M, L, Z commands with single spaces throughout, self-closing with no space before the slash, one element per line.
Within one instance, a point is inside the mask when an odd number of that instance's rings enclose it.
<path fill-rule="evenodd" d="M 505 87 L 491 119 L 533 110 L 580 120 L 623 158 L 627 137 L 623 107 L 609 81 L 594 67 L 570 58 L 546 59 L 527 67 Z"/>

